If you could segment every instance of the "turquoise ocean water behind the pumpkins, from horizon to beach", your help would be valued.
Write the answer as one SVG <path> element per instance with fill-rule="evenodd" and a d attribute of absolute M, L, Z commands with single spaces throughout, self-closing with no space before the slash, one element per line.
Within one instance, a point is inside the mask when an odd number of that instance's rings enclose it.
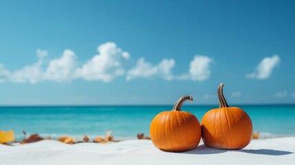
<path fill-rule="evenodd" d="M 138 133 L 149 135 L 153 117 L 170 106 L 98 106 L 98 107 L 0 107 L 0 130 L 14 130 L 17 139 L 23 131 L 52 138 L 69 135 L 82 139 L 104 136 L 111 130 L 115 140 L 135 139 Z M 254 132 L 261 137 L 295 135 L 295 105 L 240 105 L 253 122 Z M 182 111 L 201 118 L 210 106 L 183 106 Z"/>

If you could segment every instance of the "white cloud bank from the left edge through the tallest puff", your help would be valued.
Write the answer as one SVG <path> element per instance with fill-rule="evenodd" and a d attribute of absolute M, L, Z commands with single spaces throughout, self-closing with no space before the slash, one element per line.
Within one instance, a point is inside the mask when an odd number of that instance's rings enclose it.
<path fill-rule="evenodd" d="M 39 60 L 10 73 L 0 64 L 0 82 L 8 79 L 14 83 L 38 83 L 44 80 L 57 82 L 76 78 L 109 82 L 116 76 L 124 75 L 124 63 L 129 60 L 128 52 L 122 51 L 115 43 L 98 46 L 98 55 L 80 65 L 72 50 L 65 50 L 60 58 L 54 58 L 45 66 L 43 59 L 47 50 L 36 50 Z"/>

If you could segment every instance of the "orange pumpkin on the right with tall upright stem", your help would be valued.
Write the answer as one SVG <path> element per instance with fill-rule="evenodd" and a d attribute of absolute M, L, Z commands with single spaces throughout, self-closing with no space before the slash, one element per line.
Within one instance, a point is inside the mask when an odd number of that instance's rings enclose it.
<path fill-rule="evenodd" d="M 241 149 L 252 139 L 252 121 L 239 107 L 228 106 L 223 85 L 218 88 L 219 108 L 211 109 L 201 120 L 202 140 L 211 148 Z"/>

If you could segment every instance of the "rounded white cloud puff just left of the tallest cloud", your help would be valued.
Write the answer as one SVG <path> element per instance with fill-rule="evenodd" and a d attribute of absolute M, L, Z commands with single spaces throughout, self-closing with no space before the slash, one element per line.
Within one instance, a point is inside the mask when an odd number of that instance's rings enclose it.
<path fill-rule="evenodd" d="M 43 73 L 43 78 L 55 81 L 72 80 L 76 67 L 78 67 L 76 58 L 72 50 L 65 50 L 61 58 L 50 61 L 46 71 Z"/>

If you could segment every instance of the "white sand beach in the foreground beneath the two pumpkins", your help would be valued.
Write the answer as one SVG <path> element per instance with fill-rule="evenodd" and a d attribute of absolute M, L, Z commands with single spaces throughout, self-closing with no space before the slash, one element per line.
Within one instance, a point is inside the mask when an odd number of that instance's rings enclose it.
<path fill-rule="evenodd" d="M 0 164 L 295 164 L 295 137 L 252 140 L 239 151 L 201 143 L 185 153 L 160 151 L 151 140 L 73 145 L 43 140 L 19 146 L 0 144 Z"/>

